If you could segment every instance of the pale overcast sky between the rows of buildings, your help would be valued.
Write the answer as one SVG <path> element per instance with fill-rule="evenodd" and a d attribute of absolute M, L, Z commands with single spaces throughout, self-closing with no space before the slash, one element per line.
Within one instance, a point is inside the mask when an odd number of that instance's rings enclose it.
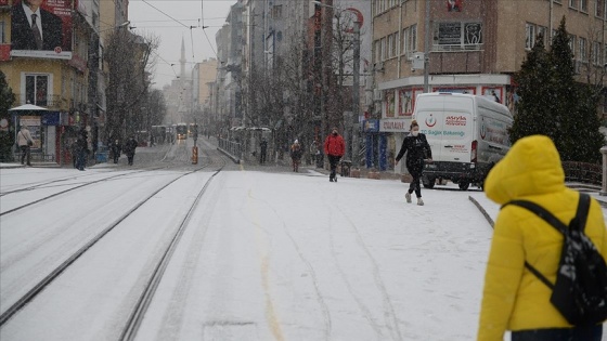
<path fill-rule="evenodd" d="M 160 39 L 154 88 L 169 84 L 180 73 L 181 41 L 185 44 L 185 71 L 194 63 L 216 58 L 215 35 L 225 23 L 236 0 L 130 0 L 129 19 L 133 32 Z M 190 28 L 194 26 L 193 28 Z M 202 26 L 208 26 L 203 30 Z M 171 66 L 170 64 L 175 64 Z"/>

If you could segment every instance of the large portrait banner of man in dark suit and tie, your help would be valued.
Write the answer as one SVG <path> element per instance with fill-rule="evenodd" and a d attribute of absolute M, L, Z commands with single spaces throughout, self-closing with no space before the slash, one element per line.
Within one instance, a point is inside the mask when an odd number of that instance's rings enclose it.
<path fill-rule="evenodd" d="M 72 58 L 73 0 L 15 0 L 11 56 Z"/>

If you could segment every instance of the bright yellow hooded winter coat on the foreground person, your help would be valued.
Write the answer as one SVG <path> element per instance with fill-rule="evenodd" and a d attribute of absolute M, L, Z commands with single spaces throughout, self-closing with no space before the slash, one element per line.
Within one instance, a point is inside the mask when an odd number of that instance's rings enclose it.
<path fill-rule="evenodd" d="M 566 225 L 579 199 L 578 192 L 565 186 L 558 152 L 543 135 L 517 141 L 487 176 L 485 191 L 499 205 L 531 200 Z M 594 199 L 585 233 L 607 259 L 605 221 Z M 571 327 L 551 304 L 552 291 L 525 267 L 527 261 L 554 283 L 561 246 L 563 235 L 534 213 L 516 206 L 502 209 L 485 276 L 479 341 L 502 341 L 505 330 Z"/>

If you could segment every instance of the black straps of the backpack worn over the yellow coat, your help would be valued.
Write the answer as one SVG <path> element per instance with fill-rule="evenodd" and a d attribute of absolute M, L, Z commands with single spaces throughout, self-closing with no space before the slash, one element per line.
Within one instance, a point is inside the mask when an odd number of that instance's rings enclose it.
<path fill-rule="evenodd" d="M 543 219 L 551 226 L 556 228 L 558 232 L 560 232 L 564 236 L 567 235 L 567 232 L 568 232 L 567 225 L 565 225 L 561 221 L 559 221 L 556 217 L 554 217 L 553 213 L 551 213 L 548 210 L 541 207 L 540 205 L 538 205 L 535 202 L 532 202 L 532 201 L 529 201 L 529 200 L 512 200 L 512 201 L 508 201 L 508 202 L 504 204 L 502 206 L 502 208 L 504 208 L 507 205 L 516 205 L 518 207 L 522 207 L 522 208 L 535 213 L 538 217 Z M 572 222 L 573 221 L 577 221 L 577 222 L 572 223 L 571 226 L 578 226 L 578 228 L 580 228 L 580 231 L 584 229 L 584 226 L 586 224 L 589 208 L 590 208 L 590 196 L 586 195 L 586 194 L 580 193 L 580 200 L 578 202 L 578 210 L 576 212 L 576 217 L 572 220 Z M 538 277 L 538 279 L 540 279 L 548 288 L 554 289 L 554 285 L 544 275 L 542 275 L 533 265 L 531 265 L 527 261 L 525 261 L 525 267 L 527 267 L 533 275 L 535 275 L 535 277 Z"/>

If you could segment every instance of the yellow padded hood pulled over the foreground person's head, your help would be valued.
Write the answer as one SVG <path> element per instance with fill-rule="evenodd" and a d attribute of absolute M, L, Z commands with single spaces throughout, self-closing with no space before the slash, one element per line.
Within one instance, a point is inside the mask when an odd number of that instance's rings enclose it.
<path fill-rule="evenodd" d="M 564 191 L 565 171 L 552 140 L 531 135 L 518 140 L 485 180 L 487 197 L 499 205 Z"/>

